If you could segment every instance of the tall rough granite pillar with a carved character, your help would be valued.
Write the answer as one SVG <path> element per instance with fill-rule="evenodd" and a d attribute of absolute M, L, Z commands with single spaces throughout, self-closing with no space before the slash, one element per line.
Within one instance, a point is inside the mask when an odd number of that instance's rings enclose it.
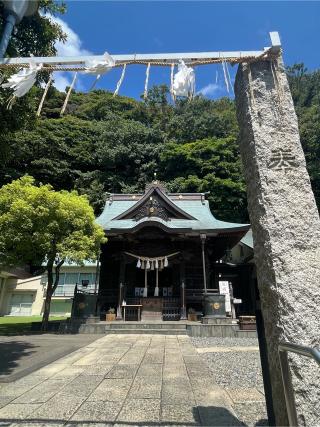
<path fill-rule="evenodd" d="M 320 220 L 282 60 L 239 66 L 235 95 L 277 425 L 288 419 L 278 343 L 320 340 Z M 319 424 L 319 367 L 290 357 L 299 425 Z"/>

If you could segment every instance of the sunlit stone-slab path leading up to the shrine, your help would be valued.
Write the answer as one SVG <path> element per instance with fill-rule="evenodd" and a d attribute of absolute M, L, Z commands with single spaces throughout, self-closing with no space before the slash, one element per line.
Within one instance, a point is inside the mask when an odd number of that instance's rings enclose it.
<path fill-rule="evenodd" d="M 106 335 L 0 384 L 2 426 L 243 425 L 188 336 Z"/>

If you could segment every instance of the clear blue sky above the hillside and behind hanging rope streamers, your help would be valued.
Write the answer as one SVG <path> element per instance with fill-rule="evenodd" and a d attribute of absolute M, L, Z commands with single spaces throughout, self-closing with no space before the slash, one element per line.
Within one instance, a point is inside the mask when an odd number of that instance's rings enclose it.
<path fill-rule="evenodd" d="M 304 62 L 320 68 L 318 1 L 67 1 L 60 18 L 69 35 L 65 55 L 260 50 L 270 45 L 269 31 L 279 31 L 287 65 Z M 196 67 L 196 88 L 210 98 L 227 95 L 221 65 Z M 230 67 L 233 78 L 236 67 Z M 99 81 L 114 90 L 121 70 Z M 218 84 L 215 84 L 218 73 Z M 57 78 L 62 88 L 72 75 Z M 94 77 L 81 76 L 78 90 Z M 145 67 L 127 68 L 120 94 L 139 98 Z M 149 86 L 170 81 L 169 68 L 151 67 Z"/>

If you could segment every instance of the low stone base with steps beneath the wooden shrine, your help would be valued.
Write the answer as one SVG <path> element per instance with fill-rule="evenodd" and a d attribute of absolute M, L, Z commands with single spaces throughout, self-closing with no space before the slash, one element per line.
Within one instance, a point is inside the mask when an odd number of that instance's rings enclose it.
<path fill-rule="evenodd" d="M 230 319 L 226 319 L 230 320 Z M 62 322 L 60 333 L 80 334 L 159 334 L 159 335 L 189 335 L 192 337 L 235 337 L 256 338 L 256 331 L 242 331 L 237 324 L 230 321 L 213 324 L 202 324 L 190 321 L 114 321 L 114 322 L 85 322 L 82 319 L 72 319 Z"/>

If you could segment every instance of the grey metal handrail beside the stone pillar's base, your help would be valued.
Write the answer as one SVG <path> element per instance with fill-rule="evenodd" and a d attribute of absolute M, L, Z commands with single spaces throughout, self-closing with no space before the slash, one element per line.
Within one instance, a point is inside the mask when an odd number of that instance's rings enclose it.
<path fill-rule="evenodd" d="M 292 344 L 288 342 L 281 342 L 278 345 L 282 384 L 284 388 L 289 425 L 297 426 L 298 417 L 294 401 L 294 392 L 288 362 L 289 352 L 314 359 L 320 365 L 320 350 L 318 350 L 317 348 L 306 347 L 303 345 Z"/>

